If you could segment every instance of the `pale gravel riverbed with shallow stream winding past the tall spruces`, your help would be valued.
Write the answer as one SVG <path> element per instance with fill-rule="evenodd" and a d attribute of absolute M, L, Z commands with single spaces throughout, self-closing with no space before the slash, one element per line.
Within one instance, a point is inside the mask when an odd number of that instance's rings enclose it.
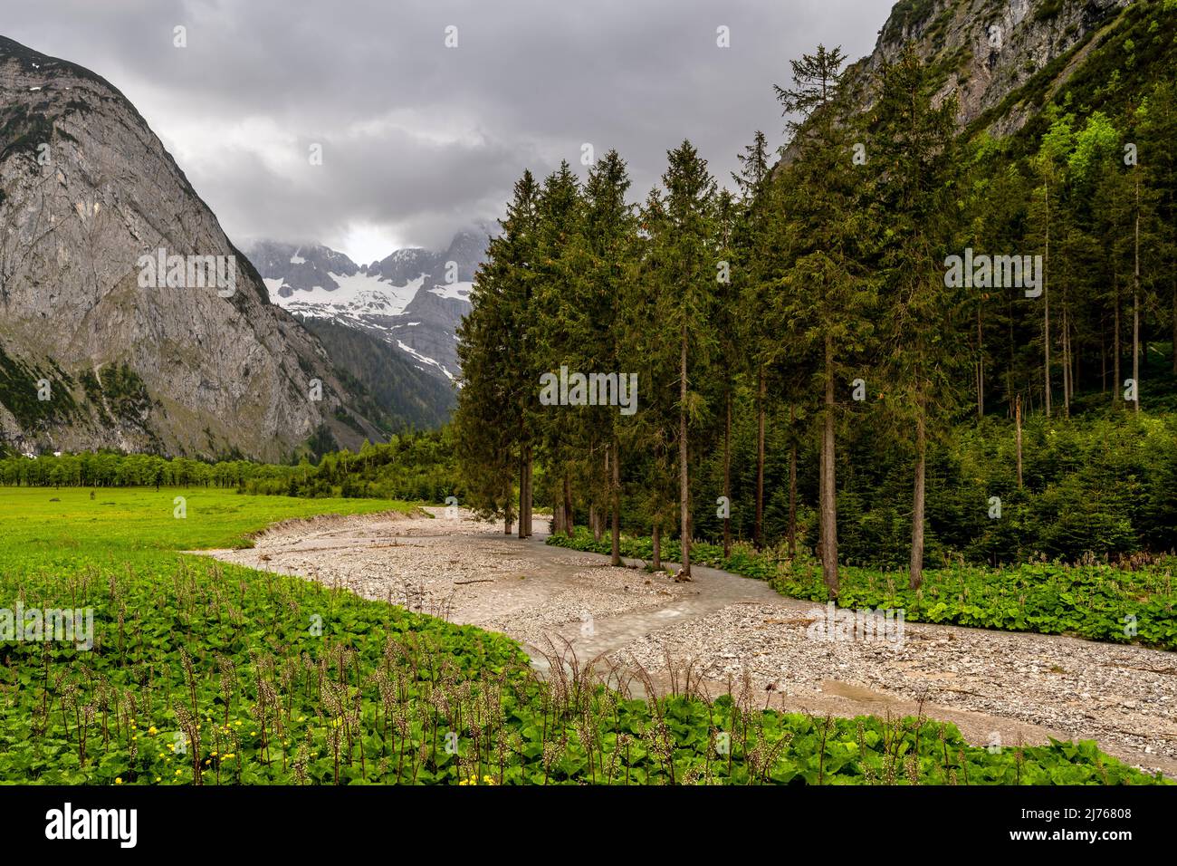
<path fill-rule="evenodd" d="M 817 715 L 956 723 L 976 745 L 1096 740 L 1128 763 L 1177 776 L 1177 655 L 1038 634 L 906 623 L 902 643 L 820 641 L 813 602 L 696 567 L 694 581 L 617 569 L 609 557 L 520 541 L 466 513 L 291 521 L 220 560 L 338 586 L 505 633 L 546 669 L 553 649 L 604 655 L 679 687 L 687 666 L 712 694 L 745 677 L 765 706 Z M 537 521 L 537 527 L 541 521 Z M 637 561 L 627 564 L 639 566 Z M 561 640 L 564 639 L 564 640 Z"/>

